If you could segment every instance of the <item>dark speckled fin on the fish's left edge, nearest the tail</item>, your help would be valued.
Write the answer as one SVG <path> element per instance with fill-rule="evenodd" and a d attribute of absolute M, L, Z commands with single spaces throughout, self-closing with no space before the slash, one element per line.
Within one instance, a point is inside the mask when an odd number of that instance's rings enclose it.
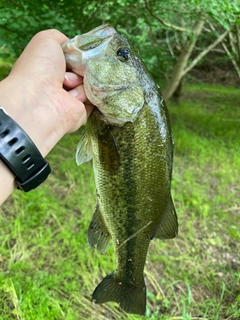
<path fill-rule="evenodd" d="M 88 243 L 97 248 L 100 253 L 107 251 L 111 235 L 97 204 L 92 221 L 88 228 Z"/>

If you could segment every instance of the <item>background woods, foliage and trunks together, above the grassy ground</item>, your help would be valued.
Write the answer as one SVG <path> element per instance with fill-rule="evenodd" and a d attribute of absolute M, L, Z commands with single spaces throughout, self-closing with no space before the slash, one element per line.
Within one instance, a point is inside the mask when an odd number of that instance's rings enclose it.
<path fill-rule="evenodd" d="M 238 0 L 5 1 L 0 7 L 1 54 L 18 55 L 39 30 L 69 37 L 112 23 L 139 50 L 166 100 L 179 95 L 196 66 L 229 68 L 240 83 Z M 223 77 L 223 75 L 221 75 Z"/>

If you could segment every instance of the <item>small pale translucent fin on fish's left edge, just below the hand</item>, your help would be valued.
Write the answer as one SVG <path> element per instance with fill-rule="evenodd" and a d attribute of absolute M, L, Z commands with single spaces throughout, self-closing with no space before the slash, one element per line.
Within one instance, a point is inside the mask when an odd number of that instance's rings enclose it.
<path fill-rule="evenodd" d="M 92 159 L 92 142 L 91 138 L 86 131 L 79 141 L 76 152 L 76 162 L 79 166 L 80 164 L 90 161 Z"/>

